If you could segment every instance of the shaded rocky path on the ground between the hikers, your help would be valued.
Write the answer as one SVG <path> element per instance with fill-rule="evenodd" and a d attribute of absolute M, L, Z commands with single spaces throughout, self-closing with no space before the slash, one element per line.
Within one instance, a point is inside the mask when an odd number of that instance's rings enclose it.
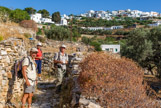
<path fill-rule="evenodd" d="M 33 96 L 32 108 L 56 108 L 59 102 L 59 94 L 56 94 L 55 79 L 39 81 Z"/>

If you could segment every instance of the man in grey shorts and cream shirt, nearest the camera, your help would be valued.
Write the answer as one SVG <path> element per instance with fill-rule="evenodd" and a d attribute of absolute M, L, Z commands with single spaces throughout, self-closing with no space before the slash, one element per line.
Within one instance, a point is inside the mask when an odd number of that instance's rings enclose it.
<path fill-rule="evenodd" d="M 22 62 L 22 75 L 25 81 L 24 95 L 22 97 L 22 108 L 25 108 L 26 100 L 28 101 L 28 108 L 31 108 L 32 96 L 35 92 L 35 86 L 37 84 L 35 63 L 37 53 L 38 50 L 36 48 L 31 48 L 30 56 L 26 57 Z"/>

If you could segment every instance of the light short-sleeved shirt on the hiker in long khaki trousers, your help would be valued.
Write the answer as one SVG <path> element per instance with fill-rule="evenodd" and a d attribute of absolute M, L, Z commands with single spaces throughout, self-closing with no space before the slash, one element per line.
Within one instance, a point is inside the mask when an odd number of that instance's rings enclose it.
<path fill-rule="evenodd" d="M 68 55 L 62 54 L 61 52 L 55 53 L 54 60 L 62 61 L 64 64 L 58 63 L 58 65 L 61 65 L 62 69 L 66 69 L 66 62 L 68 62 Z"/>

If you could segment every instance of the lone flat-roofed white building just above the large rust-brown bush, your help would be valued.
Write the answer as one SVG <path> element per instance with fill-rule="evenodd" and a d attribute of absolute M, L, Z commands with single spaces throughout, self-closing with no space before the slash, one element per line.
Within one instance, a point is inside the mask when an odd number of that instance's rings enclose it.
<path fill-rule="evenodd" d="M 101 45 L 101 49 L 103 51 L 110 51 L 112 53 L 120 53 L 120 45 L 107 45 L 107 44 L 104 44 L 104 45 Z"/>

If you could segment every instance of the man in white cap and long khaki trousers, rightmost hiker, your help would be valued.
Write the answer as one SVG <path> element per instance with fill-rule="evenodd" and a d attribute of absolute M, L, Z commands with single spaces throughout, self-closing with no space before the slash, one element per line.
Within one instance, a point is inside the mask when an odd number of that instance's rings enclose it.
<path fill-rule="evenodd" d="M 54 65 L 57 70 L 57 92 L 60 92 L 61 90 L 61 84 L 64 77 L 64 74 L 66 73 L 66 65 L 68 64 L 68 55 L 65 53 L 66 46 L 61 45 L 60 51 L 55 53 L 54 56 Z"/>

